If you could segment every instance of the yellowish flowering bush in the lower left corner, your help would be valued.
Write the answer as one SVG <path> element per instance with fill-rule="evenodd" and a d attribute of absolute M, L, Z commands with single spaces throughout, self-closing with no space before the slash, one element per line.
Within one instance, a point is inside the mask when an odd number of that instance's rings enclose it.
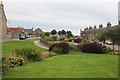
<path fill-rule="evenodd" d="M 22 57 L 16 57 L 16 56 L 2 57 L 2 72 L 5 73 L 11 68 L 23 66 L 24 63 L 25 61 Z"/>

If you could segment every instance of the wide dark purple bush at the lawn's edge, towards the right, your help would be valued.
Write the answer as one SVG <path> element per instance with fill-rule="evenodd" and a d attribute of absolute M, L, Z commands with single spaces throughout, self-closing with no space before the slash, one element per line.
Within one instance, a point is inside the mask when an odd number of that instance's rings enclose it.
<path fill-rule="evenodd" d="M 78 45 L 78 48 L 82 52 L 86 53 L 102 53 L 102 46 L 97 43 L 85 43 Z"/>

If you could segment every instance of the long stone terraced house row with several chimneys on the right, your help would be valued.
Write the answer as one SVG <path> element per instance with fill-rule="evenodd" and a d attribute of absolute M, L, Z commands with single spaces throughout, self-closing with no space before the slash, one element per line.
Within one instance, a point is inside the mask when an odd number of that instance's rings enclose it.
<path fill-rule="evenodd" d="M 81 31 L 81 36 L 83 37 L 83 39 L 88 39 L 88 40 L 94 40 L 97 39 L 98 35 L 101 34 L 102 32 L 110 29 L 110 28 L 117 28 L 120 27 L 120 25 L 115 25 L 115 26 L 111 26 L 111 23 L 108 22 L 107 23 L 107 27 L 103 27 L 103 25 L 99 25 L 99 28 L 96 28 L 96 26 L 89 27 L 89 28 L 85 28 L 84 31 Z"/>

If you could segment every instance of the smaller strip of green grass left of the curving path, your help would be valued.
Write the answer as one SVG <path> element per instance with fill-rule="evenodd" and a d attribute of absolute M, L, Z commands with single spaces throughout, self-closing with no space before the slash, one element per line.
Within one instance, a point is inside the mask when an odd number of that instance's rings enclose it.
<path fill-rule="evenodd" d="M 40 49 L 41 52 L 45 51 L 45 49 L 39 48 L 34 45 L 33 40 L 22 40 L 22 41 L 11 41 L 11 42 L 4 42 L 2 43 L 2 55 L 10 55 L 14 49 L 20 48 L 20 47 L 34 47 L 36 49 Z"/>

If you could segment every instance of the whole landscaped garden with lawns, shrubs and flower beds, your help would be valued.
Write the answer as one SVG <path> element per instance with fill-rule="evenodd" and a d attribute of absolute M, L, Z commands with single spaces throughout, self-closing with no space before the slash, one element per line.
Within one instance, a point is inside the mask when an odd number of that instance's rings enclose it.
<path fill-rule="evenodd" d="M 120 51 L 72 36 L 48 35 L 40 38 L 48 50 L 34 45 L 39 39 L 4 42 L 3 78 L 118 78 Z"/>

